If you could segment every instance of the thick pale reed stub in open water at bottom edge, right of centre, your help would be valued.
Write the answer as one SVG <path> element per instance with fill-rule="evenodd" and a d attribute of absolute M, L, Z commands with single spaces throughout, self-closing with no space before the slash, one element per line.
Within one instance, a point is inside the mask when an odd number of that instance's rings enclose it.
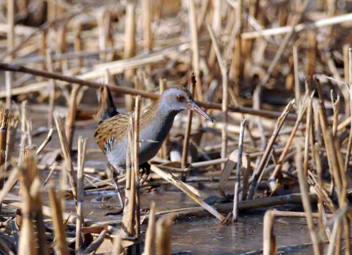
<path fill-rule="evenodd" d="M 276 237 L 273 233 L 274 214 L 268 210 L 263 221 L 263 255 L 276 254 Z"/>

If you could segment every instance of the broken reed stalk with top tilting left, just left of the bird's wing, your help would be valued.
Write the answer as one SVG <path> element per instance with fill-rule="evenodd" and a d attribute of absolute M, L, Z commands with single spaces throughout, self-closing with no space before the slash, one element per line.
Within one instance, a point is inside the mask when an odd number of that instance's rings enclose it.
<path fill-rule="evenodd" d="M 71 185 L 74 202 L 76 202 L 77 204 L 77 180 L 73 170 L 73 164 L 72 164 L 67 137 L 63 132 L 63 123 L 62 123 L 63 121 L 57 112 L 54 113 L 54 119 L 55 119 L 56 128 L 60 139 L 62 154 L 65 159 L 68 181 Z"/>

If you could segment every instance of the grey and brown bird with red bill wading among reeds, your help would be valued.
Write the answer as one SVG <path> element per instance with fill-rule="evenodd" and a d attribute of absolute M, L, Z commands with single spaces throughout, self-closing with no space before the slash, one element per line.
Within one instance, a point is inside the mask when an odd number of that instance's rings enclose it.
<path fill-rule="evenodd" d="M 102 89 L 100 91 L 104 92 Z M 100 101 L 104 99 L 110 103 L 99 103 L 102 107 L 99 107 L 100 121 L 95 129 L 94 139 L 116 173 L 122 174 L 126 169 L 128 126 L 133 113 L 117 112 L 111 94 L 109 96 L 104 92 L 100 96 L 102 95 L 105 99 L 101 97 Z M 188 89 L 182 86 L 166 89 L 159 99 L 140 115 L 138 154 L 140 167 L 157 154 L 171 130 L 175 116 L 184 110 L 194 111 L 214 122 L 213 118 L 195 103 Z"/>

